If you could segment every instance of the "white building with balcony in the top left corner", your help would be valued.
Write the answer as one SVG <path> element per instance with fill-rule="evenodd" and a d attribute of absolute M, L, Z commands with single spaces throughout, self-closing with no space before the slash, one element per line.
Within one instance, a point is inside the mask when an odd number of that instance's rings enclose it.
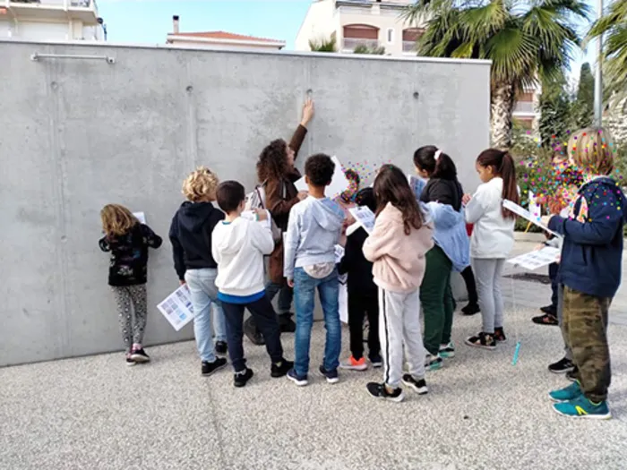
<path fill-rule="evenodd" d="M 0 38 L 105 40 L 95 0 L 0 0 Z"/>

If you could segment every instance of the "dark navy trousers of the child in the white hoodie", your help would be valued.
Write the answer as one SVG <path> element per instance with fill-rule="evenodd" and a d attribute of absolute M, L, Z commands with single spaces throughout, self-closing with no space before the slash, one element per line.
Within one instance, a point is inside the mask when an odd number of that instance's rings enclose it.
<path fill-rule="evenodd" d="M 283 346 L 281 346 L 279 321 L 272 308 L 272 303 L 267 295 L 252 303 L 227 303 L 222 302 L 224 317 L 227 320 L 228 355 L 231 358 L 233 369 L 236 372 L 243 371 L 246 367 L 244 347 L 244 309 L 247 308 L 253 315 L 257 328 L 262 331 L 266 341 L 266 351 L 270 355 L 272 363 L 283 360 Z"/>

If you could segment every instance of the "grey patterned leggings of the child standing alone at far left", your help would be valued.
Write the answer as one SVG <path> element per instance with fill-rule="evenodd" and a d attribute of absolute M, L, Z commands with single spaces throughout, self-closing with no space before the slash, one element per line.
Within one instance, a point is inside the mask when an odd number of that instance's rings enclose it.
<path fill-rule="evenodd" d="M 116 296 L 117 315 L 120 320 L 122 339 L 125 342 L 126 353 L 133 350 L 133 344 L 141 346 L 143 331 L 146 329 L 146 285 L 138 286 L 111 286 Z M 133 310 L 134 318 L 131 315 Z"/>

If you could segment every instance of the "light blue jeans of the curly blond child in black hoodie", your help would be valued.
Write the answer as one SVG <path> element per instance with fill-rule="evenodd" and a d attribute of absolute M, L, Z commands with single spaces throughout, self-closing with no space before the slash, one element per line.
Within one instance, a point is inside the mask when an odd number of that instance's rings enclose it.
<path fill-rule="evenodd" d="M 218 269 L 187 269 L 185 282 L 192 295 L 193 336 L 196 338 L 198 355 L 203 363 L 216 360 L 213 349 L 215 328 L 216 341 L 227 341 L 227 326 L 218 300 L 216 277 Z M 211 303 L 213 303 L 213 326 L 211 326 Z"/>

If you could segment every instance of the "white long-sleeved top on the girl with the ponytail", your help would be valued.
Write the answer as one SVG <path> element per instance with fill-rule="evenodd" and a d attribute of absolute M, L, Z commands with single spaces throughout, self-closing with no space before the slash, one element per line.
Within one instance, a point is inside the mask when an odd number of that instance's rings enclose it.
<path fill-rule="evenodd" d="M 502 217 L 502 178 L 494 177 L 477 188 L 466 206 L 466 221 L 474 224 L 471 258 L 507 258 L 514 246 L 513 218 Z"/>

